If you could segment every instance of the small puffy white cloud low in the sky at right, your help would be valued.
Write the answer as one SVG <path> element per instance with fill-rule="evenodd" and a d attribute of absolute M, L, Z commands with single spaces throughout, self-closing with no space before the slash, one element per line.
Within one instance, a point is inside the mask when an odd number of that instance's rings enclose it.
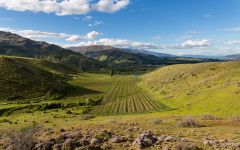
<path fill-rule="evenodd" d="M 175 49 L 192 49 L 212 46 L 211 42 L 207 39 L 203 40 L 187 40 L 180 45 L 170 46 Z"/>

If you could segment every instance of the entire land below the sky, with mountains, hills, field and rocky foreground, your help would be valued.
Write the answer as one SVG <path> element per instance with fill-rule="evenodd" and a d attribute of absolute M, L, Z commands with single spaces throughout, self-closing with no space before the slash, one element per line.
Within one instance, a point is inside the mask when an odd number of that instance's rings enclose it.
<path fill-rule="evenodd" d="M 1 36 L 0 149 L 240 147 L 237 60 Z"/>

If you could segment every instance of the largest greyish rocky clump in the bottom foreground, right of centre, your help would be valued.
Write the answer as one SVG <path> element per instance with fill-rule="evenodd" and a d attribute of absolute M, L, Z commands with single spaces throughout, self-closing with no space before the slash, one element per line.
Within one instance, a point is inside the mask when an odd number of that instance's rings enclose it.
<path fill-rule="evenodd" d="M 145 148 L 152 146 L 156 143 L 157 138 L 153 135 L 151 131 L 147 131 L 143 134 L 140 134 L 138 138 L 135 139 L 133 145 L 138 146 L 139 148 Z"/>

